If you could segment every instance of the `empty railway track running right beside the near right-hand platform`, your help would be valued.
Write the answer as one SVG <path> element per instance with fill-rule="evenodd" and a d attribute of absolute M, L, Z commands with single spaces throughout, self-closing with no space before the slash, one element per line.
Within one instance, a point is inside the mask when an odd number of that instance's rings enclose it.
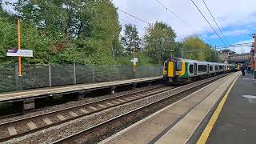
<path fill-rule="evenodd" d="M 161 110 L 162 108 L 169 106 L 173 102 L 177 102 L 179 99 L 185 98 L 187 95 L 193 93 L 196 90 L 207 86 L 211 82 L 218 80 L 219 78 L 225 77 L 228 74 L 222 74 L 214 78 L 208 78 L 200 82 L 194 82 L 194 85 L 190 84 L 187 86 L 181 86 L 173 90 L 169 90 L 170 95 L 166 98 L 159 99 L 156 102 L 147 104 L 146 106 L 139 107 L 136 110 L 132 110 L 126 114 L 122 114 L 116 118 L 112 118 L 106 122 L 102 122 L 96 126 L 92 126 L 86 130 L 79 131 L 78 133 L 72 134 L 66 138 L 59 139 L 58 141 L 52 142 L 57 143 L 97 143 L 102 141 L 104 138 L 110 137 L 119 130 L 125 129 L 127 126 L 132 125 L 139 120 L 146 118 L 150 114 Z"/>

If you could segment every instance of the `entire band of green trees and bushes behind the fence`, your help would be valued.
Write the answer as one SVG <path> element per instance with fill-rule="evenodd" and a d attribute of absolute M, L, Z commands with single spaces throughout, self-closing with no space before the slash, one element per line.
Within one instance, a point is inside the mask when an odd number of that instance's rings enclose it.
<path fill-rule="evenodd" d="M 6 57 L 6 50 L 17 48 L 18 16 L 22 20 L 22 49 L 34 50 L 34 58 L 23 58 L 26 63 L 130 65 L 133 46 L 139 65 L 162 64 L 170 54 L 216 60 L 210 46 L 196 36 L 175 42 L 174 30 L 164 22 L 148 26 L 142 37 L 136 26 L 128 24 L 121 35 L 118 13 L 110 0 L 18 0 L 6 4 L 14 6 L 15 12 L 3 10 L 0 0 L 1 64 L 16 61 Z"/>

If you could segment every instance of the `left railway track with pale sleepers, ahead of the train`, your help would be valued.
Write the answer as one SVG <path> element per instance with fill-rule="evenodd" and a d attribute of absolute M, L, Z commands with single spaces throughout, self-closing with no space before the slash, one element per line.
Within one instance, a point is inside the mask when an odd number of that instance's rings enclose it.
<path fill-rule="evenodd" d="M 28 118 L 22 118 L 0 124 L 0 142 L 12 138 L 22 137 L 39 130 L 57 126 L 71 120 L 82 118 L 86 115 L 95 114 L 115 106 L 121 106 L 129 102 L 138 101 L 154 94 L 171 90 L 174 87 L 154 87 L 147 90 L 140 90 L 130 94 L 123 94 L 114 98 L 106 98 L 96 102 L 90 102 L 79 106 L 69 107 L 62 110 L 55 110 L 46 114 L 38 114 Z"/>

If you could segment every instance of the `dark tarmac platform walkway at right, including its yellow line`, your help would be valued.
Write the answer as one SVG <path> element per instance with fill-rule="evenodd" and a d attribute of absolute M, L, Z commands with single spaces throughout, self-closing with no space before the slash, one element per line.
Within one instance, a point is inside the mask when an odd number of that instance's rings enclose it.
<path fill-rule="evenodd" d="M 238 78 L 210 120 L 214 126 L 206 126 L 198 143 L 256 142 L 256 81 L 253 75 Z"/>

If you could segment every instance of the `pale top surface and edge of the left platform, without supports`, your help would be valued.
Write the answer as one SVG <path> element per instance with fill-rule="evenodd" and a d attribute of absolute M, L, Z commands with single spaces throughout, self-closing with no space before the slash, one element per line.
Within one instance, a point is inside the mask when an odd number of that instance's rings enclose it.
<path fill-rule="evenodd" d="M 42 96 L 49 96 L 54 94 L 68 94 L 74 93 L 81 90 L 96 90 L 107 88 L 111 86 L 123 86 L 129 85 L 133 83 L 141 83 L 141 82 L 152 82 L 156 80 L 160 80 L 161 77 L 152 77 L 152 78 L 134 78 L 123 81 L 115 81 L 115 82 L 97 82 L 93 84 L 85 84 L 85 85 L 72 85 L 72 86 L 56 86 L 50 88 L 43 89 L 35 89 L 35 90 L 22 90 L 22 91 L 14 91 L 11 93 L 2 93 L 0 94 L 0 102 L 6 101 L 15 101 L 24 98 L 36 98 Z"/>

